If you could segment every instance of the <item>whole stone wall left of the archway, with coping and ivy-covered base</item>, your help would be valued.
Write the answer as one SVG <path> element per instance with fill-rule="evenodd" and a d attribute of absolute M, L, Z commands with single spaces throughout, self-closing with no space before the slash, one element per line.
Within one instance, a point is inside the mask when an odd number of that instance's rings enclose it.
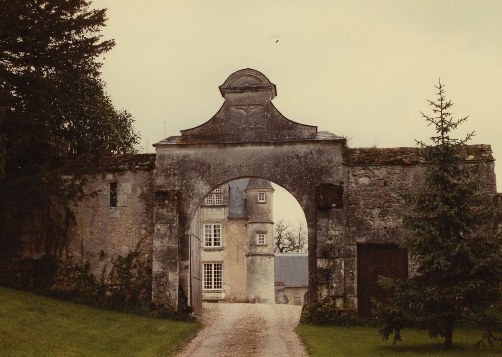
<path fill-rule="evenodd" d="M 61 247 L 37 244 L 36 232 L 30 232 L 22 239 L 21 259 L 0 256 L 0 282 L 111 309 L 148 311 L 154 160 L 155 155 L 103 158 L 98 172 L 84 177 L 87 196 L 71 207 L 76 224 L 69 224 Z M 68 175 L 73 171 L 72 163 L 62 167 Z"/>

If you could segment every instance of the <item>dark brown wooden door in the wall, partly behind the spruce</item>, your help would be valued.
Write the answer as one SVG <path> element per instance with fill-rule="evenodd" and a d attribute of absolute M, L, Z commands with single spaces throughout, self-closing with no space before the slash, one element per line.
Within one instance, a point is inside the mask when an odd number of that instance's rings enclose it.
<path fill-rule="evenodd" d="M 391 278 L 408 277 L 408 253 L 392 245 L 357 246 L 357 304 L 359 316 L 374 317 L 371 298 L 387 301 L 392 291 L 383 289 L 377 283 L 378 276 Z"/>

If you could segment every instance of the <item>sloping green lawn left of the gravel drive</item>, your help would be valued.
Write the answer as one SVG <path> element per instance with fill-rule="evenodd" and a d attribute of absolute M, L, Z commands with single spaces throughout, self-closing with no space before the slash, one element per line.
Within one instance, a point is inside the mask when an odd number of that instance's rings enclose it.
<path fill-rule="evenodd" d="M 200 328 L 0 287 L 0 356 L 165 356 Z"/>

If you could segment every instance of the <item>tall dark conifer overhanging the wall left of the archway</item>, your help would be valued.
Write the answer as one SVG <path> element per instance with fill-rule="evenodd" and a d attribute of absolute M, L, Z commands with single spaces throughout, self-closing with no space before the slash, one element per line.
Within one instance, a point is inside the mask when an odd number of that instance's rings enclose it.
<path fill-rule="evenodd" d="M 114 109 L 100 80 L 105 10 L 84 0 L 0 0 L 0 251 L 19 237 L 61 249 L 69 205 L 83 196 L 93 160 L 134 150 L 126 111 Z M 77 162 L 76 175 L 55 165 Z M 38 219 L 34 219 L 37 218 Z M 30 228 L 30 222 L 43 226 Z"/>

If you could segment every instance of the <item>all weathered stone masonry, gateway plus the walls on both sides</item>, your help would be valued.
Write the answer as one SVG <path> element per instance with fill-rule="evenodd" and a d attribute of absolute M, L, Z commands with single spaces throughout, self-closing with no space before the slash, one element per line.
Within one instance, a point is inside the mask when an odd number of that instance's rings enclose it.
<path fill-rule="evenodd" d="M 271 102 L 275 85 L 255 70 L 233 73 L 220 91 L 219 112 L 155 144 L 156 155 L 104 161 L 88 184 L 99 195 L 76 208 L 74 259 L 89 260 L 98 272 L 149 241 L 152 302 L 180 308 L 190 291 L 190 223 L 202 199 L 231 180 L 260 177 L 284 187 L 303 209 L 310 301 L 357 308 L 357 247 L 403 236 L 397 191 L 419 186 L 420 150 L 348 148 L 342 137 L 286 119 Z M 470 146 L 465 158 L 483 161 L 495 194 L 490 146 Z M 117 207 L 108 207 L 112 182 Z"/>

